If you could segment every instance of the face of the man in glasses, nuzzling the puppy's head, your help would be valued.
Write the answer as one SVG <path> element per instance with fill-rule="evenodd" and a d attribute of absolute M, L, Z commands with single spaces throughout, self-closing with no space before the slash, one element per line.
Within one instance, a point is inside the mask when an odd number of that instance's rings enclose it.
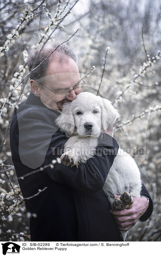
<path fill-rule="evenodd" d="M 39 87 L 39 97 L 46 107 L 61 110 L 63 103 L 73 101 L 76 95 L 81 92 L 81 88 L 76 92 L 70 91 L 69 95 L 61 95 L 58 92 L 72 89 L 77 84 L 82 83 L 80 79 L 78 67 L 72 58 L 68 58 L 68 61 L 64 63 L 50 60 L 46 76 L 43 79 L 45 87 L 43 85 L 42 88 Z M 50 90 L 58 93 L 58 95 Z"/>

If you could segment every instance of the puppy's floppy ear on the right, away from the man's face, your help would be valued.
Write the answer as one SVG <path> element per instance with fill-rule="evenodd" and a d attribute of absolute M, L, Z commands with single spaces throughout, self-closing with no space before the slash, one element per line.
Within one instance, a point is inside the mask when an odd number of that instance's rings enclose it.
<path fill-rule="evenodd" d="M 111 101 L 101 99 L 101 121 L 103 132 L 105 132 L 110 124 L 114 124 L 117 118 L 120 117 L 118 110 L 113 107 Z"/>

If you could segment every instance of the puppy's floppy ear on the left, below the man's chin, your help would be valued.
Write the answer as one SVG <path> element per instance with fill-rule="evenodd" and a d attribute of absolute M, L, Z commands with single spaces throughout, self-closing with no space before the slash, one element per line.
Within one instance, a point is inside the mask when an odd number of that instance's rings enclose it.
<path fill-rule="evenodd" d="M 56 118 L 56 124 L 64 132 L 68 134 L 74 133 L 74 116 L 70 103 L 64 103 L 61 115 Z"/>

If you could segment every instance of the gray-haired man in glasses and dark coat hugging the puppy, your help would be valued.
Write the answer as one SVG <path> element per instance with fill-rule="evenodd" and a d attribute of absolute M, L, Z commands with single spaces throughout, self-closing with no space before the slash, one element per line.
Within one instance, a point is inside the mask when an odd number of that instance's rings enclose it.
<path fill-rule="evenodd" d="M 58 45 L 53 43 L 31 52 L 29 71 Z M 133 198 L 132 209 L 110 213 L 102 188 L 116 156 L 110 151 L 118 151 L 116 140 L 105 134 L 98 148 L 108 150 L 109 155 L 95 155 L 78 168 L 62 163 L 51 165 L 61 156 L 67 140 L 56 127 L 55 119 L 63 103 L 74 100 L 83 85 L 76 60 L 67 45 L 60 45 L 33 70 L 31 93 L 15 109 L 10 125 L 12 161 L 32 216 L 31 241 L 122 241 L 118 227 L 126 231 L 138 219 L 146 221 L 153 211 L 153 202 L 142 185 L 144 196 Z"/>

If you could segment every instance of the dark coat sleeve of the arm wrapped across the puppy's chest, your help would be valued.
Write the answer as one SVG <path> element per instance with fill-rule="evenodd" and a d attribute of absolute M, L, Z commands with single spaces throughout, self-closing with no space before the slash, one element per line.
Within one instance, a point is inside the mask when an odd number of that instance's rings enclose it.
<path fill-rule="evenodd" d="M 67 141 L 55 125 L 54 115 L 49 109 L 25 109 L 17 112 L 19 129 L 19 155 L 21 162 L 32 169 L 39 169 L 52 163 L 62 155 Z M 16 132 L 15 132 L 16 134 Z M 103 188 L 109 169 L 117 155 L 118 143 L 105 134 L 108 144 L 97 147 L 97 154 L 86 164 L 67 167 L 56 163 L 54 169 L 47 167 L 44 172 L 55 182 L 66 184 L 78 192 L 97 192 Z"/>

